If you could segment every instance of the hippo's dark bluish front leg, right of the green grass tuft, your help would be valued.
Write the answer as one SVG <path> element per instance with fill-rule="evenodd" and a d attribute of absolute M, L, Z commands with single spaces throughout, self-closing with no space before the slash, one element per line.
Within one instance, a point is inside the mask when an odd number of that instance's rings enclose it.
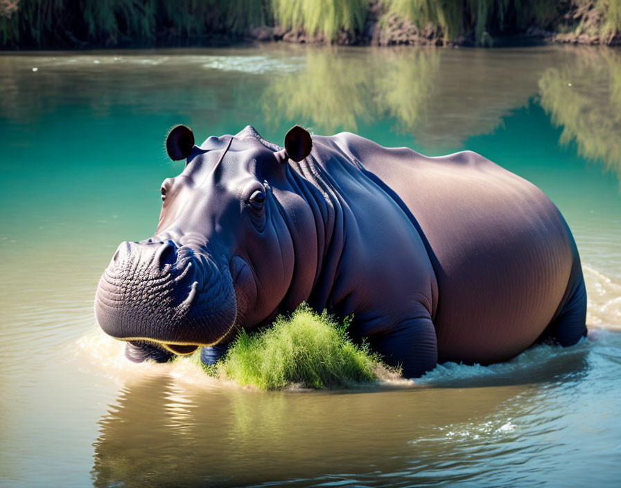
<path fill-rule="evenodd" d="M 373 351 L 391 366 L 400 366 L 404 378 L 418 378 L 438 362 L 437 337 L 430 317 L 404 320 L 394 331 L 370 336 Z"/>

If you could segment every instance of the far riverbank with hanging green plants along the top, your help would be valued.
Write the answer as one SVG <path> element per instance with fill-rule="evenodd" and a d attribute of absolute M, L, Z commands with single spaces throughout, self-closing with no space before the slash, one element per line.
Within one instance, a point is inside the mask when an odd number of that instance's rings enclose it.
<path fill-rule="evenodd" d="M 2 49 L 621 45 L 621 0 L 0 0 Z"/>

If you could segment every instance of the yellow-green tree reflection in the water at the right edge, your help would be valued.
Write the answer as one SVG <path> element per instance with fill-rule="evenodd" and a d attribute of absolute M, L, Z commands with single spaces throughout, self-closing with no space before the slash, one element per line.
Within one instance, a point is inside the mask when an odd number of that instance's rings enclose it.
<path fill-rule="evenodd" d="M 563 127 L 561 143 L 621 177 L 621 53 L 579 49 L 539 80 L 541 105 Z"/>

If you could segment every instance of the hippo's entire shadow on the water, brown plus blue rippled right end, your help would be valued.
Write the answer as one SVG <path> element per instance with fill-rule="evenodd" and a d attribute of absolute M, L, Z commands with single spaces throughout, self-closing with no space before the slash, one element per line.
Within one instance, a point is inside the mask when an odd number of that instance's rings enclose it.
<path fill-rule="evenodd" d="M 536 410 L 541 421 L 549 403 L 539 405 L 541 389 L 582 381 L 590 349 L 585 341 L 535 348 L 492 369 L 445 366 L 414 387 L 265 393 L 190 388 L 167 376 L 128 383 L 99 421 L 94 485 L 306 485 L 326 473 L 369 471 L 384 473 L 371 476 L 381 483 L 404 470 L 420 481 L 429 469 L 446 470 L 439 460 L 447 451 L 455 467 L 490 442 L 505 453 L 516 439 L 511 419 Z M 453 469 L 446 476 L 466 475 Z"/>

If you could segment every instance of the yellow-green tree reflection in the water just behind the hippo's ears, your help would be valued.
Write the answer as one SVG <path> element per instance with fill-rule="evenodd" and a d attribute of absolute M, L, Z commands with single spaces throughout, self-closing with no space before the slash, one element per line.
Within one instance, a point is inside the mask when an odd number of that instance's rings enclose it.
<path fill-rule="evenodd" d="M 383 116 L 409 130 L 425 109 L 439 51 L 310 49 L 306 67 L 274 78 L 261 107 L 272 125 L 304 121 L 317 132 L 356 132 Z"/>

